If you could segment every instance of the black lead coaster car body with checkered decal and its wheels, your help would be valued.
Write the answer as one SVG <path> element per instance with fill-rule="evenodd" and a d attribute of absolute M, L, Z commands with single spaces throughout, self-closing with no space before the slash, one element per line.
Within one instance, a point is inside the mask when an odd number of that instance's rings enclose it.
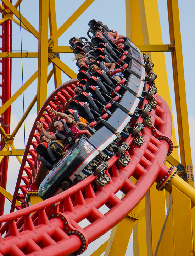
<path fill-rule="evenodd" d="M 104 161 L 106 157 L 104 153 L 99 153 L 87 139 L 81 138 L 41 182 L 38 190 L 39 196 L 45 200 L 54 196 L 60 188 L 65 190 L 75 185 L 91 175 L 100 162 L 103 163 L 104 168 L 100 170 L 96 183 L 103 187 L 110 181 L 109 176 L 104 173 L 104 170 L 108 168 Z"/>

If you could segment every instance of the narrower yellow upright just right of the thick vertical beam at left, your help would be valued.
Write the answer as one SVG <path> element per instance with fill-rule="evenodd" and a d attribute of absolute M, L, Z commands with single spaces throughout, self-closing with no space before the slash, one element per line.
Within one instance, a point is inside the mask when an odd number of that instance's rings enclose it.
<path fill-rule="evenodd" d="M 49 27 L 50 27 L 50 36 L 56 33 L 57 31 L 57 22 L 56 22 L 56 9 L 55 9 L 55 0 L 49 1 Z M 58 46 L 58 40 L 56 40 L 55 45 Z M 54 84 L 55 89 L 62 84 L 61 70 L 53 64 L 54 68 Z"/>

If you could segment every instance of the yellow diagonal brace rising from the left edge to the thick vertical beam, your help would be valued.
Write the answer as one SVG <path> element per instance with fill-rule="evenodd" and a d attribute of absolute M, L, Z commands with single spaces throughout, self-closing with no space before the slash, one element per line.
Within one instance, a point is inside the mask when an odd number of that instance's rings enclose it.
<path fill-rule="evenodd" d="M 48 65 L 50 64 L 50 62 L 48 62 Z M 28 88 L 29 85 L 32 84 L 32 82 L 37 78 L 38 76 L 38 71 L 36 71 L 31 78 L 28 79 L 28 81 L 26 81 L 26 83 L 24 84 L 24 91 Z M 9 108 L 9 106 L 11 106 L 11 104 L 22 94 L 22 87 L 20 87 L 20 89 L 11 97 L 9 98 L 8 101 L 5 102 L 5 104 L 0 108 L 0 115 L 7 109 Z"/>

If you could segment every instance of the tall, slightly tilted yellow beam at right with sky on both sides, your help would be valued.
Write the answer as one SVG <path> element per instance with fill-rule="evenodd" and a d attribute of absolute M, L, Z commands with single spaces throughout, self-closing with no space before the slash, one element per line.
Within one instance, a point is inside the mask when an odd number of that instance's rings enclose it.
<path fill-rule="evenodd" d="M 181 163 L 186 166 L 192 164 L 192 159 L 188 124 L 188 111 L 185 93 L 178 0 L 168 0 L 167 7 L 171 44 L 175 43 L 175 50 L 172 52 L 172 63 L 180 144 L 179 148 Z M 189 183 L 191 186 L 194 187 L 193 181 L 190 181 Z"/>

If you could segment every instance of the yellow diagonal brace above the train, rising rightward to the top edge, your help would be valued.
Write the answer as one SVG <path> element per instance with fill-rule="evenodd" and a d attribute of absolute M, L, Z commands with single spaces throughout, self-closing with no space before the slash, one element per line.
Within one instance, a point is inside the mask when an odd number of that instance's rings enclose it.
<path fill-rule="evenodd" d="M 4 0 L 5 1 L 5 0 Z M 7 0 L 8 1 L 8 0 Z M 56 40 L 72 25 L 74 21 L 93 3 L 94 0 L 86 0 L 72 15 L 68 20 L 63 23 L 63 25 L 56 31 L 55 34 L 51 36 L 51 39 L 56 42 Z M 25 25 L 25 24 L 24 24 Z"/>

